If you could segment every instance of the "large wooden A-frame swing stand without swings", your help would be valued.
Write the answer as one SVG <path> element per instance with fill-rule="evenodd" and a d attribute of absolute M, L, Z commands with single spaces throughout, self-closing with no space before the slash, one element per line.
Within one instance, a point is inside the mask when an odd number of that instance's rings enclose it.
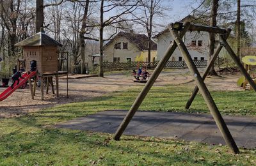
<path fill-rule="evenodd" d="M 230 45 L 227 43 L 227 38 L 228 35 L 230 34 L 231 29 L 221 29 L 218 27 L 209 27 L 209 26 L 200 26 L 200 25 L 195 25 L 195 24 L 190 24 L 190 22 L 175 22 L 174 24 L 170 24 L 169 26 L 169 31 L 172 34 L 173 41 L 168 47 L 168 49 L 165 52 L 164 57 L 161 59 L 159 64 L 157 64 L 156 69 L 152 73 L 150 79 L 147 81 L 147 84 L 145 87 L 142 89 L 141 93 L 137 96 L 136 100 L 132 104 L 131 109 L 125 116 L 124 120 L 116 130 L 116 133 L 114 135 L 115 140 L 119 140 L 122 133 L 124 132 L 125 128 L 128 126 L 129 122 L 131 121 L 132 117 L 134 116 L 135 112 L 138 110 L 140 107 L 141 103 L 143 102 L 145 96 L 147 95 L 148 91 L 150 88 L 153 86 L 154 82 L 156 81 L 157 77 L 163 70 L 165 64 L 167 63 L 168 59 L 172 56 L 174 50 L 179 47 L 179 50 L 184 57 L 186 64 L 188 65 L 188 68 L 192 75 L 195 78 L 196 81 L 196 87 L 193 91 L 193 94 L 191 95 L 191 98 L 189 98 L 188 103 L 186 104 L 186 109 L 188 109 L 193 102 L 196 93 L 198 93 L 198 90 L 200 90 L 200 93 L 202 94 L 205 103 L 207 104 L 207 107 L 209 108 L 212 117 L 214 118 L 214 121 L 216 122 L 221 135 L 223 136 L 223 139 L 225 140 L 226 144 L 232 149 L 234 153 L 239 153 L 239 149 L 236 145 L 236 142 L 234 141 L 232 135 L 230 134 L 227 124 L 223 120 L 223 117 L 220 114 L 220 111 L 218 110 L 218 107 L 214 103 L 214 100 L 212 99 L 211 93 L 207 89 L 204 83 L 205 77 L 208 75 L 211 67 L 214 64 L 214 61 L 218 57 L 218 54 L 220 53 L 222 47 L 225 47 L 227 52 L 230 54 L 234 62 L 237 64 L 239 67 L 240 71 L 243 73 L 244 77 L 248 80 L 252 88 L 256 91 L 256 85 L 253 82 L 252 78 L 250 75 L 246 72 L 246 70 L 243 68 L 243 64 L 240 63 L 239 58 L 236 56 L 234 51 L 231 49 Z M 218 33 L 220 36 L 220 43 L 218 47 L 216 48 L 214 54 L 212 55 L 207 68 L 204 72 L 203 77 L 200 75 L 198 72 L 195 64 L 193 63 L 193 59 L 189 55 L 188 49 L 186 48 L 186 45 L 184 44 L 184 41 L 182 41 L 182 37 L 185 35 L 186 31 L 206 31 L 209 33 Z"/>

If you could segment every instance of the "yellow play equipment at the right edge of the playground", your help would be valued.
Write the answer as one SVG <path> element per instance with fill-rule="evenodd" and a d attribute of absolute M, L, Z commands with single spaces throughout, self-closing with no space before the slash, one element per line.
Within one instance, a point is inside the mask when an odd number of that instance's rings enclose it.
<path fill-rule="evenodd" d="M 256 56 L 245 56 L 242 58 L 242 61 L 244 63 L 244 68 L 250 74 L 253 81 L 256 83 L 256 70 L 255 70 Z M 243 89 L 246 89 L 246 90 L 252 89 L 250 84 L 248 84 L 248 80 L 246 80 L 244 77 L 240 77 L 237 80 L 237 86 L 241 86 L 243 87 Z"/>

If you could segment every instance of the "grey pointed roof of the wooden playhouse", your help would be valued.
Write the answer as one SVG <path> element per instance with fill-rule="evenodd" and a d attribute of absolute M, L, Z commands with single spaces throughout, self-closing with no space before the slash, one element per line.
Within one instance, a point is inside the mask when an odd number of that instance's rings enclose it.
<path fill-rule="evenodd" d="M 39 32 L 34 34 L 33 36 L 26 38 L 25 40 L 20 41 L 19 43 L 15 44 L 15 46 L 62 46 L 61 43 L 54 40 L 50 36 L 45 33 Z"/>

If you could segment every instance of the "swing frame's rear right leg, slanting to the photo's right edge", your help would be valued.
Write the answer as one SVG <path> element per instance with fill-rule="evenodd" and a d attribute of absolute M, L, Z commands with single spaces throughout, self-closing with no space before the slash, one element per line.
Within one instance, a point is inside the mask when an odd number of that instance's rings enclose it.
<path fill-rule="evenodd" d="M 230 45 L 228 45 L 227 41 L 225 40 L 225 38 L 222 35 L 220 35 L 220 39 L 221 39 L 220 42 L 223 43 L 225 49 L 227 50 L 228 54 L 230 54 L 230 56 L 232 57 L 233 61 L 238 66 L 239 70 L 243 73 L 243 75 L 246 78 L 246 80 L 248 80 L 248 82 L 250 83 L 250 85 L 253 88 L 253 90 L 256 91 L 256 85 L 253 82 L 252 77 L 249 75 L 249 73 L 244 69 L 243 64 L 240 62 L 239 57 L 236 56 L 236 54 L 231 49 Z"/>

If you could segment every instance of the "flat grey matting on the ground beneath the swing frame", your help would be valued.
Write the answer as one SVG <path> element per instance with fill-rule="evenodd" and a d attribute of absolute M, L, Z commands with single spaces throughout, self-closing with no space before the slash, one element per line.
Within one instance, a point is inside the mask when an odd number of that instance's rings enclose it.
<path fill-rule="evenodd" d="M 126 113 L 127 110 L 98 112 L 57 124 L 56 127 L 115 133 Z M 225 119 L 237 146 L 256 147 L 256 117 L 223 116 L 223 119 Z M 124 134 L 225 144 L 210 114 L 138 111 Z"/>

